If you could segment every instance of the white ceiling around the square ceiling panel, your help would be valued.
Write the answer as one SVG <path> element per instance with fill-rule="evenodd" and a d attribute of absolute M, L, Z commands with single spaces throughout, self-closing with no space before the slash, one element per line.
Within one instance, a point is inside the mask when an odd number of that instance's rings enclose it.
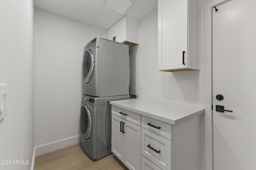
<path fill-rule="evenodd" d="M 120 14 L 105 8 L 106 0 L 34 0 L 36 8 L 77 20 L 89 25 L 109 29 L 123 16 L 141 20 L 157 10 L 157 0 L 132 0 L 132 6 Z"/>

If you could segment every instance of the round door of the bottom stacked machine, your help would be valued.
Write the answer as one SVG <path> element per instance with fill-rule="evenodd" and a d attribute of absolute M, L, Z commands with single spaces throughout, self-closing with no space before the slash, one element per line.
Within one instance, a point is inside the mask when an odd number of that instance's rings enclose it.
<path fill-rule="evenodd" d="M 90 111 L 85 104 L 80 109 L 80 132 L 84 139 L 88 139 L 92 133 L 92 119 Z"/>

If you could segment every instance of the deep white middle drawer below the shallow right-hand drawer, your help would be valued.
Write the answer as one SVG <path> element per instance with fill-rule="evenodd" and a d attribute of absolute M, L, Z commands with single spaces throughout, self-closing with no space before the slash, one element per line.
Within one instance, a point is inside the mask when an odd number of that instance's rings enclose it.
<path fill-rule="evenodd" d="M 144 128 L 141 128 L 141 154 L 162 170 L 172 169 L 172 141 Z"/>

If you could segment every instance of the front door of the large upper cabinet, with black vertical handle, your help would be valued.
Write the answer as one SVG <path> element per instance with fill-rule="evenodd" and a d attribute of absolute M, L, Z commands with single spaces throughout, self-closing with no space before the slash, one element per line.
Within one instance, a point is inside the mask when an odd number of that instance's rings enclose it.
<path fill-rule="evenodd" d="M 159 70 L 188 67 L 187 32 L 188 0 L 158 0 Z"/>

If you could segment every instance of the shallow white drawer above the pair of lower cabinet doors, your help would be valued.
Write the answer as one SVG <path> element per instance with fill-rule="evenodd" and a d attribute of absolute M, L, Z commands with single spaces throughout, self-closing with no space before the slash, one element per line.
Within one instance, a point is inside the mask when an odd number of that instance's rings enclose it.
<path fill-rule="evenodd" d="M 112 114 L 121 117 L 135 125 L 141 126 L 141 115 L 132 111 L 122 109 L 120 107 L 112 106 Z"/>

